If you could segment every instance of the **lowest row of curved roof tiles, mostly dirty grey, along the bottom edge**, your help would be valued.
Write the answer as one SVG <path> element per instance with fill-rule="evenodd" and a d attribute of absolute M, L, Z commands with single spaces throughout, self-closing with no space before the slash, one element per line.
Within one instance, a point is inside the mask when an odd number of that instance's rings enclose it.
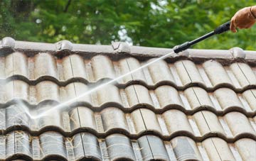
<path fill-rule="evenodd" d="M 253 160 L 255 153 L 252 149 L 256 143 L 255 140 L 242 138 L 233 145 L 220 138 L 207 138 L 201 146 L 200 143 L 195 143 L 185 136 L 163 142 L 154 135 L 144 135 L 137 140 L 130 140 L 122 134 L 112 134 L 105 139 L 99 139 L 90 133 L 77 133 L 72 138 L 64 138 L 53 131 L 42 133 L 38 137 L 23 131 L 14 131 L 6 136 L 0 137 L 2 143 L 8 143 L 6 148 L 1 148 L 2 152 L 8 152 L 6 156 L 1 153 L 2 158 L 20 153 L 37 160 L 56 157 L 62 158 L 61 160 L 102 160 L 102 156 L 110 160 L 136 160 L 139 157 L 144 160 L 170 160 L 169 156 L 175 156 L 176 160 L 238 160 L 239 157 Z M 106 147 L 102 143 L 105 143 Z M 250 150 L 245 153 L 244 150 L 249 148 Z M 107 153 L 103 154 L 105 150 Z M 235 155 L 234 150 L 239 153 Z M 203 154 L 203 151 L 206 153 Z"/>

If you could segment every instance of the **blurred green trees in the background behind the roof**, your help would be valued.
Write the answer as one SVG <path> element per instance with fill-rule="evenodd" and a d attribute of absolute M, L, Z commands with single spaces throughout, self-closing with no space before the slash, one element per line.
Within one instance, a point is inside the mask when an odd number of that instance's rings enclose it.
<path fill-rule="evenodd" d="M 0 39 L 172 48 L 197 38 L 255 0 L 0 0 Z M 256 50 L 256 25 L 194 48 Z"/>

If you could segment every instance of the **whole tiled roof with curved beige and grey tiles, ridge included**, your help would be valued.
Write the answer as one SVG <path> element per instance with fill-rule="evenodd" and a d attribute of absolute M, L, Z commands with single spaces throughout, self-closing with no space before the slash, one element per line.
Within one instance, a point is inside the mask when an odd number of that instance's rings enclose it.
<path fill-rule="evenodd" d="M 0 45 L 0 160 L 247 160 L 256 158 L 256 51 Z"/>

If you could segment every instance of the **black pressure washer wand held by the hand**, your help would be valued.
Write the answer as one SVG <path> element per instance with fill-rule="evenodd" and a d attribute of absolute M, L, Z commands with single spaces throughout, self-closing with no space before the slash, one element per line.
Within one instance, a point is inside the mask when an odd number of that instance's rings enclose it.
<path fill-rule="evenodd" d="M 215 28 L 215 30 L 211 31 L 210 33 L 207 33 L 206 35 L 201 36 L 200 38 L 196 38 L 195 40 L 188 41 L 186 43 L 183 43 L 181 45 L 176 45 L 174 47 L 174 52 L 177 54 L 178 52 L 181 52 L 183 50 L 186 50 L 191 47 L 191 45 L 194 45 L 196 43 L 201 42 L 202 40 L 205 40 L 206 38 L 210 38 L 212 35 L 225 33 L 226 31 L 230 30 L 230 21 L 223 23 L 222 25 L 218 26 L 218 28 Z"/>

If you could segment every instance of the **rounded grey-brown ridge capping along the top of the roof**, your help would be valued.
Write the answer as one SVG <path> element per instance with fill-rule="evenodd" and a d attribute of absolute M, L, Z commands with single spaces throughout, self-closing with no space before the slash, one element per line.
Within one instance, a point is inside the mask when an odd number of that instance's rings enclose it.
<path fill-rule="evenodd" d="M 112 45 L 88 45 L 74 44 L 68 40 L 61 40 L 58 43 L 36 43 L 28 41 L 18 41 L 13 38 L 6 37 L 1 40 L 0 52 L 28 52 L 34 55 L 38 52 L 50 52 L 58 55 L 59 52 L 69 52 L 80 54 L 107 54 L 117 55 L 119 53 L 132 55 L 134 57 L 161 57 L 169 52 L 173 52 L 171 48 L 151 48 L 141 46 L 129 46 L 124 42 L 114 42 Z M 242 50 L 235 47 L 230 50 L 206 50 L 206 49 L 188 49 L 177 54 L 173 53 L 169 58 L 188 57 L 197 60 L 220 59 L 220 60 L 243 60 L 254 62 L 256 64 L 256 51 Z"/>

